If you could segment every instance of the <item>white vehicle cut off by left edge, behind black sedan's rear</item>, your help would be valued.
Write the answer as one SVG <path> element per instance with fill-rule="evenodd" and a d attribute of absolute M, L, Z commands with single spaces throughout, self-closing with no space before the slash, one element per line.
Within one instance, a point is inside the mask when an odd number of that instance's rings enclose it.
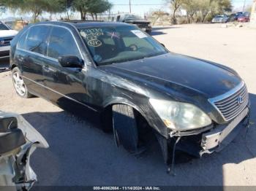
<path fill-rule="evenodd" d="M 0 21 L 0 58 L 9 58 L 10 42 L 18 34 Z"/>

